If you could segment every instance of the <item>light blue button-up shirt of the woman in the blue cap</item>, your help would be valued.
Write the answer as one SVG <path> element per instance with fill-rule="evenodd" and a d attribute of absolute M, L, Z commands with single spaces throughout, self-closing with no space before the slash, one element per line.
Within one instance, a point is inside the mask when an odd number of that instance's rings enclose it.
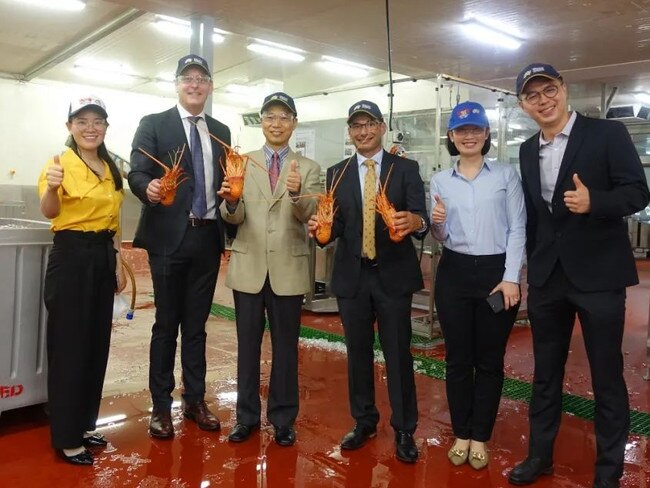
<path fill-rule="evenodd" d="M 431 224 L 434 238 L 446 248 L 472 256 L 506 254 L 503 281 L 519 283 L 526 243 L 526 209 L 519 175 L 512 165 L 483 161 L 473 180 L 465 178 L 458 163 L 431 177 L 434 195 L 445 204 L 443 224 Z"/>

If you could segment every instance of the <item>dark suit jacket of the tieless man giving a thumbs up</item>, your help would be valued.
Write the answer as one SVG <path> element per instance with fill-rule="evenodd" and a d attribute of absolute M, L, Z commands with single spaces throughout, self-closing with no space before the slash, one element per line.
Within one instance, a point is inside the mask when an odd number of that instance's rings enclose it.
<path fill-rule="evenodd" d="M 551 213 L 542 199 L 539 137 L 521 145 L 519 159 L 526 211 L 528 283 L 542 286 L 559 260 L 567 278 L 586 292 L 638 283 L 624 217 L 648 204 L 648 184 L 623 124 L 577 114 L 560 165 Z M 591 212 L 574 214 L 564 192 L 573 174 L 589 189 Z"/>

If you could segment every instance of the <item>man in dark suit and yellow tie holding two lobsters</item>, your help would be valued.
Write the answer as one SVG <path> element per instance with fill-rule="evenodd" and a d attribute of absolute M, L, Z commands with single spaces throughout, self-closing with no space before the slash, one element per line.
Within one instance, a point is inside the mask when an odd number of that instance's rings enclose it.
<path fill-rule="evenodd" d="M 348 133 L 356 153 L 327 171 L 327 187 L 338 182 L 331 240 L 338 239 L 332 272 L 348 351 L 348 392 L 354 429 L 341 449 L 357 449 L 377 433 L 373 343 L 377 321 L 386 360 L 388 396 L 395 430 L 396 455 L 413 463 L 418 411 L 411 355 L 411 299 L 423 288 L 422 273 L 410 236 L 424 238 L 429 222 L 418 163 L 382 148 L 386 124 L 379 107 L 362 100 L 350 107 Z M 385 187 L 396 213 L 389 229 L 375 211 L 375 194 Z M 316 233 L 316 216 L 309 230 Z"/>

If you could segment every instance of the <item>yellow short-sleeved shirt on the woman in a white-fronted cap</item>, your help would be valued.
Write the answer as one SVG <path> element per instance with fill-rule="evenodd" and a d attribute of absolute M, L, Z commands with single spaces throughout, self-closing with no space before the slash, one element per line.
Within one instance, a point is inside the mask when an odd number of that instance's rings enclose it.
<path fill-rule="evenodd" d="M 54 232 L 117 232 L 120 227 L 120 207 L 124 200 L 124 190 L 115 190 L 113 174 L 108 164 L 104 162 L 104 178 L 100 180 L 72 149 L 66 150 L 59 160 L 63 167 L 63 183 L 57 192 L 61 201 L 61 212 L 52 219 L 50 228 Z M 45 173 L 53 164 L 54 159 L 49 160 L 38 178 L 38 194 L 41 198 L 47 190 Z"/>

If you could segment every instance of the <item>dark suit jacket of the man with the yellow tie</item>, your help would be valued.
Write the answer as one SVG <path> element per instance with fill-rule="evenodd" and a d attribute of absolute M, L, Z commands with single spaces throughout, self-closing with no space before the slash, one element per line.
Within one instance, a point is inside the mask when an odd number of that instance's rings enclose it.
<path fill-rule="evenodd" d="M 347 159 L 327 170 L 327 188 L 343 171 Z M 418 214 L 427 222 L 427 230 L 413 235 L 423 239 L 429 227 L 424 184 L 416 161 L 386 151 L 381 162 L 380 181 L 383 185 L 391 165 L 386 194 L 395 209 Z M 336 296 L 352 298 L 359 287 L 361 274 L 361 240 L 363 231 L 363 202 L 356 154 L 350 160 L 336 188 L 335 207 L 338 207 L 332 226 L 332 240 L 338 238 L 332 271 L 332 292 Z M 401 242 L 390 240 L 381 216 L 375 215 L 375 245 L 381 284 L 388 293 L 409 295 L 424 287 L 422 272 L 413 241 L 407 236 Z"/>

